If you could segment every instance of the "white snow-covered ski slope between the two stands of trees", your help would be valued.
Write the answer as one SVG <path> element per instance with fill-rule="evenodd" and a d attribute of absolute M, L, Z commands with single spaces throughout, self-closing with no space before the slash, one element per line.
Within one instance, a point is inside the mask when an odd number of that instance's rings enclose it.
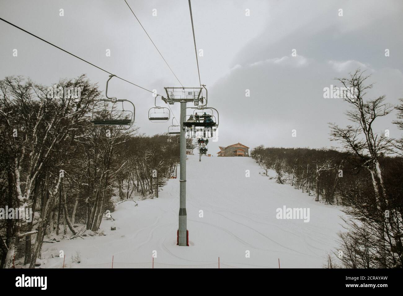
<path fill-rule="evenodd" d="M 314 201 L 289 185 L 269 180 L 251 158 L 188 155 L 187 228 L 189 247 L 177 246 L 179 212 L 178 178 L 168 180 L 158 199 L 119 204 L 101 228 L 106 236 L 45 243 L 42 267 L 62 263 L 66 255 L 80 252 L 79 265 L 112 261 L 152 261 L 174 265 L 200 265 L 220 261 L 237 267 L 282 268 L 322 267 L 326 256 L 337 247 L 342 230 L 340 207 Z M 246 170 L 250 177 L 246 177 Z M 272 172 L 271 172 L 272 173 Z M 269 174 L 270 175 L 270 174 Z M 277 219 L 283 206 L 309 208 L 310 221 Z M 199 217 L 199 211 L 203 217 Z M 115 231 L 110 227 L 116 226 Z M 250 257 L 245 256 L 250 252 Z M 55 258 L 52 258 L 53 255 Z"/>

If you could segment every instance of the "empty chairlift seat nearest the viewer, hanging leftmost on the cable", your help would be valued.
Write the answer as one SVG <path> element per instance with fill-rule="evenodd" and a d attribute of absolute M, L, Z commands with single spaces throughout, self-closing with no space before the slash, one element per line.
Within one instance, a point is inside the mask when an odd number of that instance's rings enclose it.
<path fill-rule="evenodd" d="M 106 81 L 106 90 L 105 90 L 105 96 L 106 99 L 100 99 L 96 101 L 93 106 L 92 106 L 92 115 L 91 115 L 91 123 L 94 126 L 97 125 L 107 125 L 107 126 L 125 126 L 125 128 L 121 129 L 129 129 L 130 126 L 133 125 L 134 118 L 135 118 L 135 106 L 134 104 L 127 100 L 127 99 L 117 99 L 116 97 L 108 97 L 108 83 L 112 77 L 115 75 L 109 75 L 108 81 Z M 96 112 L 95 111 L 95 106 L 100 103 L 104 102 L 104 112 Z M 122 109 L 121 110 L 115 110 L 115 104 L 116 103 L 122 103 Z M 132 110 L 125 110 L 125 106 L 123 102 L 129 102 L 133 106 L 133 111 Z M 112 103 L 112 106 L 109 107 L 110 103 Z M 120 104 L 116 104 L 120 105 Z M 115 112 L 115 114 L 119 114 L 117 116 L 113 116 L 112 114 Z"/>

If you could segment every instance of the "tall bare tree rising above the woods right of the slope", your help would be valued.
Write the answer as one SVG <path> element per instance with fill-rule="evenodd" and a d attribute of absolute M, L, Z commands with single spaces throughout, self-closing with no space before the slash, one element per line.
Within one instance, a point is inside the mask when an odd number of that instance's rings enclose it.
<path fill-rule="evenodd" d="M 388 115 L 393 106 L 384 103 L 385 96 L 381 95 L 375 99 L 364 100 L 368 89 L 372 89 L 373 83 L 367 84 L 370 75 L 365 75 L 365 71 L 359 68 L 353 73 L 349 73 L 347 78 L 337 78 L 347 89 L 343 100 L 352 106 L 352 110 L 346 113 L 347 118 L 354 123 L 341 128 L 337 124 L 331 124 L 331 140 L 338 141 L 343 145 L 347 153 L 357 157 L 357 165 L 369 170 L 374 187 L 378 218 L 384 220 L 382 212 L 388 205 L 388 200 L 384 188 L 382 171 L 379 164 L 379 157 L 389 153 L 391 141 L 383 135 L 377 135 L 373 131 L 373 124 L 376 118 Z M 393 227 L 391 225 L 391 227 Z M 385 226 L 380 226 L 380 236 L 384 236 Z M 382 250 L 381 250 L 382 253 Z M 384 257 L 384 254 L 381 254 Z M 381 266 L 385 267 L 385 258 L 380 260 Z M 382 263 L 383 262 L 383 263 Z"/>

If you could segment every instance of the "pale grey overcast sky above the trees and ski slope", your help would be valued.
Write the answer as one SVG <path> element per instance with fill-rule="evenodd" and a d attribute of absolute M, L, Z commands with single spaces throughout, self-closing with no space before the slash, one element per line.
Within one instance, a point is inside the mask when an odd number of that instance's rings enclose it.
<path fill-rule="evenodd" d="M 181 83 L 197 87 L 188 1 L 127 1 Z M 324 99 L 323 89 L 339 85 L 334 78 L 357 67 L 376 82 L 368 99 L 386 95 L 397 104 L 403 97 L 401 0 L 193 0 L 192 12 L 197 49 L 204 52 L 201 81 L 208 88 L 209 106 L 220 112 L 218 142 L 208 145 L 208 153 L 216 155 L 218 145 L 237 142 L 251 148 L 335 145 L 329 141 L 328 122 L 349 124 L 344 114 L 349 104 Z M 1 0 L 0 17 L 160 94 L 164 86 L 180 86 L 124 0 Z M 0 65 L 0 79 L 24 75 L 44 85 L 85 73 L 104 90 L 108 79 L 105 72 L 4 22 Z M 133 101 L 141 132 L 167 131 L 169 123 L 147 119 L 154 104 L 151 93 L 118 79 L 111 80 L 109 91 Z M 179 106 L 171 108 L 179 118 Z M 389 129 L 391 137 L 401 137 L 391 124 L 395 117 L 378 120 L 375 131 Z M 297 137 L 291 137 L 293 129 Z"/>

